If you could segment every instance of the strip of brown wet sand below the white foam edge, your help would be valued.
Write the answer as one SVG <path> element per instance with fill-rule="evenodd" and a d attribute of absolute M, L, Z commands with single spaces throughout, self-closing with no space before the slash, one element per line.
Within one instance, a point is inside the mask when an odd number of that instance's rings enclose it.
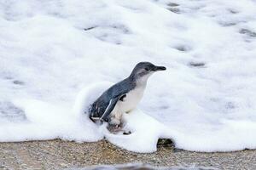
<path fill-rule="evenodd" d="M 197 153 L 175 150 L 171 144 L 164 144 L 155 153 L 139 154 L 122 150 L 104 140 L 82 144 L 59 139 L 0 143 L 0 169 L 61 169 L 125 163 L 145 163 L 156 167 L 256 169 L 256 151 Z"/>

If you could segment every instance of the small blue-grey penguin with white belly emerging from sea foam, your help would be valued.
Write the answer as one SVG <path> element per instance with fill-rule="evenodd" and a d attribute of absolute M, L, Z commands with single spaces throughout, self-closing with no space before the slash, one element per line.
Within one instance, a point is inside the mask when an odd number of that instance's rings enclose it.
<path fill-rule="evenodd" d="M 143 98 L 148 77 L 155 71 L 165 70 L 166 67 L 156 66 L 149 62 L 138 63 L 129 77 L 108 88 L 90 105 L 90 120 L 119 125 L 123 113 L 129 113 L 135 109 Z"/>

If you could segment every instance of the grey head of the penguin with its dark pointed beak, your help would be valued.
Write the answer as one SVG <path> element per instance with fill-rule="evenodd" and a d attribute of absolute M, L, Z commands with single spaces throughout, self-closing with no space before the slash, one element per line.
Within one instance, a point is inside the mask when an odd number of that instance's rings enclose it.
<path fill-rule="evenodd" d="M 136 80 L 142 79 L 147 80 L 155 71 L 165 71 L 165 66 L 153 65 L 149 62 L 140 62 L 138 63 L 133 71 L 131 72 L 131 77 L 134 77 Z"/>

